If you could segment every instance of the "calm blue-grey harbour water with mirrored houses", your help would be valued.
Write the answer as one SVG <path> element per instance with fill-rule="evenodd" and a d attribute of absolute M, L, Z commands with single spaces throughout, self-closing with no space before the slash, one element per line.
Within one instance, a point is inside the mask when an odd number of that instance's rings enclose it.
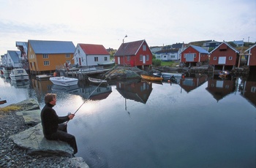
<path fill-rule="evenodd" d="M 239 87 L 240 86 L 240 87 Z M 255 167 L 256 81 L 192 75 L 176 83 L 72 88 L 1 78 L 7 104 L 57 93 L 59 115 L 89 167 Z M 87 99 L 91 95 L 91 99 Z M 4 107 L 7 104 L 1 104 Z"/>

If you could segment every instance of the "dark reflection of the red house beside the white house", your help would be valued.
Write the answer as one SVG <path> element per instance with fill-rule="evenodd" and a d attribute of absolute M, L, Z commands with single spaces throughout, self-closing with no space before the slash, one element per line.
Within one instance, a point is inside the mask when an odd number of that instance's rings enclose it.
<path fill-rule="evenodd" d="M 146 104 L 152 91 L 152 84 L 145 81 L 117 82 L 116 90 L 125 99 L 130 99 Z"/>

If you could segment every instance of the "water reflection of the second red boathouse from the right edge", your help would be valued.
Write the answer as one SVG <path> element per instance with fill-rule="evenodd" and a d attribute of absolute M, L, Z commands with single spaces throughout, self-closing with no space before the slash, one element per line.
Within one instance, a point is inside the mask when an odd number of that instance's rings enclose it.
<path fill-rule="evenodd" d="M 214 77 L 213 79 L 208 79 L 208 87 L 206 90 L 219 102 L 220 99 L 236 91 L 236 80 L 221 80 L 219 77 Z"/>

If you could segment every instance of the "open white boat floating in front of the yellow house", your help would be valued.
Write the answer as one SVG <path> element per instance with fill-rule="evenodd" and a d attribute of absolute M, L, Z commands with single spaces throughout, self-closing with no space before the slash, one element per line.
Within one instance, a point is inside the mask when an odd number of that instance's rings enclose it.
<path fill-rule="evenodd" d="M 63 85 L 63 86 L 69 86 L 69 85 L 77 85 L 78 79 L 72 78 L 72 77 L 50 77 L 50 81 L 54 85 Z"/>

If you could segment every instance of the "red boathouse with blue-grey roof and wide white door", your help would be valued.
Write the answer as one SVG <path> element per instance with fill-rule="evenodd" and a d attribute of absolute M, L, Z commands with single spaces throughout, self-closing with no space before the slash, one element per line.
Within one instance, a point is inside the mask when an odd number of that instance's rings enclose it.
<path fill-rule="evenodd" d="M 181 53 L 181 63 L 186 64 L 186 66 L 195 66 L 197 63 L 204 61 L 208 61 L 208 51 L 203 49 L 203 47 L 189 45 Z"/>

